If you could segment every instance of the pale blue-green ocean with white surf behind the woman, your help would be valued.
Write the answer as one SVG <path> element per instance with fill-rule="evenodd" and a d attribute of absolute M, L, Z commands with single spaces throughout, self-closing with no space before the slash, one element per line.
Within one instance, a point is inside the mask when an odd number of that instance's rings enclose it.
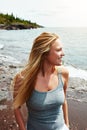
<path fill-rule="evenodd" d="M 0 30 L 0 63 L 3 60 L 25 63 L 33 40 L 42 32 L 53 32 L 60 36 L 65 52 L 63 61 L 70 77 L 87 80 L 87 27 Z"/>

